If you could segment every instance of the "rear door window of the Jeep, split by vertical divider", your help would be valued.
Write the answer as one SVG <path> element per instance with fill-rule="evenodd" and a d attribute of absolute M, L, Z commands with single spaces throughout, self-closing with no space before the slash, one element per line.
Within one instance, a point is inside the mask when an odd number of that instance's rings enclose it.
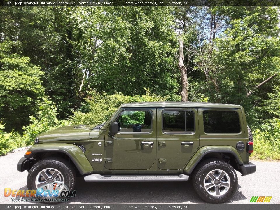
<path fill-rule="evenodd" d="M 189 110 L 162 111 L 162 132 L 193 133 L 193 112 Z"/>

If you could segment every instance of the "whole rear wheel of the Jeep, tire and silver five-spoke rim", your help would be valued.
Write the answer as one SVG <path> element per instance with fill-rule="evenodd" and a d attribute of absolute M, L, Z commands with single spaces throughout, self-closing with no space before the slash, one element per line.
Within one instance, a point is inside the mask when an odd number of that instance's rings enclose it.
<path fill-rule="evenodd" d="M 218 159 L 201 162 L 193 173 L 193 187 L 208 203 L 223 203 L 237 189 L 238 178 L 232 166 Z"/>

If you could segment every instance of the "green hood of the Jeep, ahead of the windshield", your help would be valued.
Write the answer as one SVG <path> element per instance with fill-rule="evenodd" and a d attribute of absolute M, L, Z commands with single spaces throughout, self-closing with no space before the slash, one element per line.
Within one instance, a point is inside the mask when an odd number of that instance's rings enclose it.
<path fill-rule="evenodd" d="M 79 141 L 88 140 L 89 135 L 93 140 L 100 134 L 100 130 L 92 130 L 94 125 L 64 126 L 39 134 L 42 141 Z"/>

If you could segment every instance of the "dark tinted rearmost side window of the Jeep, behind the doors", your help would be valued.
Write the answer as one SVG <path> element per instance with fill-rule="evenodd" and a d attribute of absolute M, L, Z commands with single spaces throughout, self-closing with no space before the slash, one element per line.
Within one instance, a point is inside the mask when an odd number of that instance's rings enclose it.
<path fill-rule="evenodd" d="M 203 111 L 204 133 L 240 133 L 239 116 L 236 111 Z"/>

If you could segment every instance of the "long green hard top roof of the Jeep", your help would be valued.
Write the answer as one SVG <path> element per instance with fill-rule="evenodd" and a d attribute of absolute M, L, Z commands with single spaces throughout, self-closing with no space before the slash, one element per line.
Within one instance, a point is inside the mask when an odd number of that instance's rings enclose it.
<path fill-rule="evenodd" d="M 174 107 L 174 108 L 242 108 L 235 104 L 218 104 L 218 103 L 202 103 L 202 102 L 136 102 L 122 104 L 122 107 L 140 108 L 140 107 Z"/>

